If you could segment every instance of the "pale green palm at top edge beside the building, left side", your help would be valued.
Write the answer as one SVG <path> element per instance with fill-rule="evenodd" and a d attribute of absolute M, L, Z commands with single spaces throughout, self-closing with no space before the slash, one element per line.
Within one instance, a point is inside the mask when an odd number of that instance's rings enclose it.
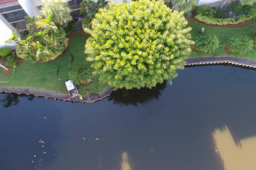
<path fill-rule="evenodd" d="M 62 26 L 64 23 L 72 20 L 66 0 L 44 0 L 42 16 L 45 18 L 49 17 L 50 21 L 55 23 L 56 26 Z"/>

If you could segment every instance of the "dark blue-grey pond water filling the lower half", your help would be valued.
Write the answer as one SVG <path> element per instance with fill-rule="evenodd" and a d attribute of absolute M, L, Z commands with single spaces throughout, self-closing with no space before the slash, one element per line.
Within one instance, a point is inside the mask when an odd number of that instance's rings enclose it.
<path fill-rule="evenodd" d="M 94 104 L 1 93 L 0 170 L 121 170 L 123 152 L 132 170 L 223 170 L 211 134 L 227 125 L 236 142 L 256 135 L 256 72 L 178 74 Z"/>

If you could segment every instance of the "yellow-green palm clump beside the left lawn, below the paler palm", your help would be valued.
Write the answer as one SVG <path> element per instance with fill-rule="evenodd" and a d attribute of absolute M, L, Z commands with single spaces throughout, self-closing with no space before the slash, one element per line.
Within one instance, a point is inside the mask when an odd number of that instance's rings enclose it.
<path fill-rule="evenodd" d="M 63 28 L 58 28 L 50 17 L 35 18 L 35 26 L 29 29 L 25 39 L 15 37 L 18 44 L 16 53 L 19 58 L 32 61 L 50 61 L 58 57 L 67 47 L 68 39 Z"/>

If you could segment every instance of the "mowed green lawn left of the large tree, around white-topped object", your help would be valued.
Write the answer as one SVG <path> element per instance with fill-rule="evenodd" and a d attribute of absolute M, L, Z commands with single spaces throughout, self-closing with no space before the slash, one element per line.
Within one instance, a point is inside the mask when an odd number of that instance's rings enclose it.
<path fill-rule="evenodd" d="M 3 74 L 0 72 L 0 81 L 8 81 L 8 83 L 0 82 L 1 87 L 8 88 L 34 88 L 36 90 L 53 91 L 56 93 L 68 94 L 65 81 L 68 79 L 69 70 L 86 69 L 91 63 L 86 61 L 86 54 L 84 53 L 84 45 L 86 44 L 86 37 L 82 34 L 75 34 L 72 43 L 67 53 L 65 53 L 59 60 L 51 63 L 32 63 L 26 61 L 15 68 L 15 74 L 12 80 L 12 69 L 10 74 Z M 70 54 L 75 56 L 72 58 Z M 59 76 L 57 71 L 59 69 Z M 88 86 L 77 85 L 79 93 L 82 96 L 87 96 L 87 90 L 90 93 L 99 93 L 105 90 L 108 85 L 99 82 L 99 76 L 94 76 L 94 82 Z"/>

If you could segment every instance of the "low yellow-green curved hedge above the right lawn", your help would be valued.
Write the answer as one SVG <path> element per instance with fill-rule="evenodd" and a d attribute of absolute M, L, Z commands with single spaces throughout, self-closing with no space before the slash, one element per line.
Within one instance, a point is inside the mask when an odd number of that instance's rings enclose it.
<path fill-rule="evenodd" d="M 241 18 L 239 18 L 239 20 L 236 20 L 235 18 L 225 18 L 225 19 L 211 18 L 211 17 L 198 14 L 198 15 L 195 15 L 195 18 L 197 20 L 200 20 L 203 23 L 215 24 L 215 25 L 227 25 L 227 24 L 242 23 L 245 20 L 251 19 L 252 16 L 243 15 Z"/>

